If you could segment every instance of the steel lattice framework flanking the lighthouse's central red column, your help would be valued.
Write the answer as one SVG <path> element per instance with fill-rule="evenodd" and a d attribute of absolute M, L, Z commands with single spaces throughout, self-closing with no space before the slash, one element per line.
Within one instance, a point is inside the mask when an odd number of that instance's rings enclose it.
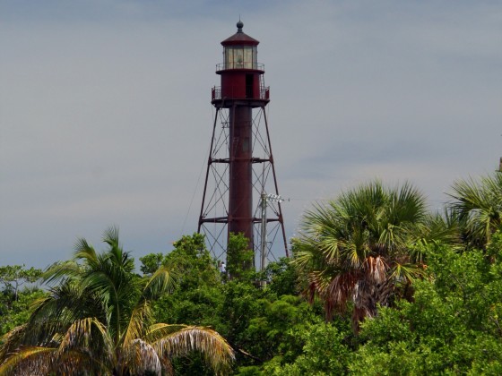
<path fill-rule="evenodd" d="M 268 93 L 268 88 L 266 88 Z M 268 95 L 268 94 L 267 94 Z M 266 103 L 265 103 L 266 105 Z M 253 197 L 255 203 L 253 218 L 253 248 L 255 253 L 260 249 L 262 238 L 261 195 L 264 192 L 279 194 L 273 153 L 270 143 L 268 121 L 265 105 L 254 110 L 252 120 L 253 132 Z M 211 151 L 207 165 L 207 172 L 203 190 L 203 204 L 199 217 L 199 233 L 206 236 L 206 240 L 214 257 L 225 258 L 228 241 L 229 224 L 229 166 L 230 166 L 230 108 L 216 108 L 212 128 Z M 289 256 L 288 244 L 282 219 L 281 203 L 269 201 L 266 222 L 266 237 L 268 239 L 268 261 L 275 261 L 281 255 Z M 283 249 L 273 246 L 281 241 Z"/>

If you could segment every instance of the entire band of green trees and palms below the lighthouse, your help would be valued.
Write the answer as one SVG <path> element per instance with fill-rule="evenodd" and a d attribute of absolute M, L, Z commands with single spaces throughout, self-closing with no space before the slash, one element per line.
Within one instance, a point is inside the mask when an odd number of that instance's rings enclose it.
<path fill-rule="evenodd" d="M 1 268 L 0 374 L 500 374 L 500 176 L 455 182 L 442 213 L 411 184 L 361 184 L 307 210 L 293 257 L 259 273 L 242 235 L 221 273 L 194 234 L 136 274 L 115 227 L 45 290 Z"/>

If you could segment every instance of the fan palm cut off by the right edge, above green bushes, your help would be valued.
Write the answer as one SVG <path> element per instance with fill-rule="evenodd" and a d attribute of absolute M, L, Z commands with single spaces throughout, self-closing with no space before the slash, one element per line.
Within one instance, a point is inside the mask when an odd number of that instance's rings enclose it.
<path fill-rule="evenodd" d="M 453 199 L 449 208 L 463 227 L 467 244 L 484 247 L 502 226 L 502 173 L 458 180 L 448 195 Z"/>

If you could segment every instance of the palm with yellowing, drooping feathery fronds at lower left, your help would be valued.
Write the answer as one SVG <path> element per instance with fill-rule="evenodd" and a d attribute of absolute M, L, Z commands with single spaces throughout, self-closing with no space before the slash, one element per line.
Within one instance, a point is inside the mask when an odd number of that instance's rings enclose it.
<path fill-rule="evenodd" d="M 72 261 L 45 274 L 48 297 L 30 320 L 3 338 L 0 374 L 171 374 L 173 357 L 201 351 L 214 372 L 234 359 L 221 336 L 209 328 L 155 323 L 151 303 L 173 286 L 168 269 L 149 279 L 134 274 L 134 260 L 109 228 L 97 253 L 85 239 Z"/>

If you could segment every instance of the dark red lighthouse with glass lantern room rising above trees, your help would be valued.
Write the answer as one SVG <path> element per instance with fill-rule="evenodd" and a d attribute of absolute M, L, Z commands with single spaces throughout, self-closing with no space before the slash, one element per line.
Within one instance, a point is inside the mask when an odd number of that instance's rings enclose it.
<path fill-rule="evenodd" d="M 266 252 L 270 259 L 278 236 L 288 255 L 265 113 L 270 91 L 257 61 L 259 42 L 243 26 L 238 21 L 237 33 L 221 42 L 221 86 L 212 88 L 216 111 L 198 232 L 217 258 L 225 254 L 229 234 L 242 233 L 255 254 Z"/>

